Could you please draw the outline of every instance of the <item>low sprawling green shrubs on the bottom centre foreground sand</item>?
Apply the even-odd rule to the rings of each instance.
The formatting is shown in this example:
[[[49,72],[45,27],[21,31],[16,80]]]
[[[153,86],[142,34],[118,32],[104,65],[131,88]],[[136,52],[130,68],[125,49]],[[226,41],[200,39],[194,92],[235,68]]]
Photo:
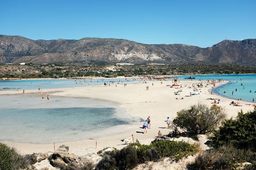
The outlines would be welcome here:
[[[198,147],[184,142],[161,140],[150,145],[134,143],[122,150],[106,152],[96,169],[132,169],[146,161],[157,161],[162,157],[179,160],[198,152]]]

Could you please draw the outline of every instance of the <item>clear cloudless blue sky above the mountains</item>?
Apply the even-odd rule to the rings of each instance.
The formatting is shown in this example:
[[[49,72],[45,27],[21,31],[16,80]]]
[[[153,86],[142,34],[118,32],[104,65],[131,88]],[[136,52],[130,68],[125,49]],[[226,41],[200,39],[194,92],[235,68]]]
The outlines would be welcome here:
[[[256,38],[256,1],[0,0],[0,34],[207,47]]]

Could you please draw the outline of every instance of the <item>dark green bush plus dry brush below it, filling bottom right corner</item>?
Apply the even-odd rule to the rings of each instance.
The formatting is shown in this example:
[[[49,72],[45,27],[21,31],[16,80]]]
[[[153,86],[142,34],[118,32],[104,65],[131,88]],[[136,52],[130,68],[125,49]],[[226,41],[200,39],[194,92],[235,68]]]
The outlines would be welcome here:
[[[256,169],[256,109],[225,120],[210,139],[189,169]]]

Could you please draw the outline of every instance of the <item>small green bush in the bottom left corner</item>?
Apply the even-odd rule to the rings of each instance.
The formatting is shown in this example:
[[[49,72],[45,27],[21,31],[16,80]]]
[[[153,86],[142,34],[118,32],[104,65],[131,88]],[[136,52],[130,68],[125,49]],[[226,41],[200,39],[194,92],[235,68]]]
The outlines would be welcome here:
[[[14,148],[0,143],[0,169],[26,168],[26,161]]]

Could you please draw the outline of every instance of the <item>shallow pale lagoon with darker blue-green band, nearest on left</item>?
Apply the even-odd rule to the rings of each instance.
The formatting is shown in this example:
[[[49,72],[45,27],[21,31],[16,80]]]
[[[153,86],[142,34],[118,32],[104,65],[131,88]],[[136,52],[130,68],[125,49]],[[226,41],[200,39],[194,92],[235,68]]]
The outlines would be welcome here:
[[[97,138],[139,122],[114,103],[74,97],[0,96],[0,140],[53,143]]]

